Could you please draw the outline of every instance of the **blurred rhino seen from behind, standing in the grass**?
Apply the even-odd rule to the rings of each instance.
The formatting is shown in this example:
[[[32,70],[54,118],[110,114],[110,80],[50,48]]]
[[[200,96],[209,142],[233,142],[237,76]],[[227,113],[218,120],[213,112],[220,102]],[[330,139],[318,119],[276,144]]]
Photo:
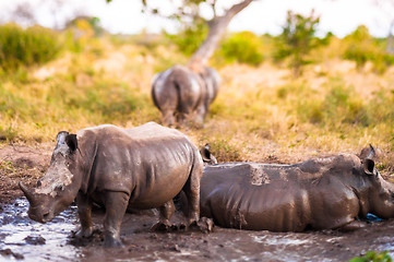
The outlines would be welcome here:
[[[162,112],[162,123],[202,126],[219,83],[218,73],[208,67],[199,74],[179,64],[157,73],[152,81],[152,98]]]

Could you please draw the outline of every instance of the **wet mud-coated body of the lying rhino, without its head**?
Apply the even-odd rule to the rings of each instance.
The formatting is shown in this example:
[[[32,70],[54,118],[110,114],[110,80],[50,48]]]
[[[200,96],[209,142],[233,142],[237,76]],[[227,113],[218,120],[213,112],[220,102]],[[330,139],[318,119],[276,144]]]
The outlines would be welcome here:
[[[333,159],[332,159],[333,160]],[[351,165],[348,160],[342,163]],[[301,231],[335,228],[357,216],[358,200],[327,159],[295,165],[219,164],[206,167],[201,212],[224,227]],[[344,216],[342,210],[348,211]]]

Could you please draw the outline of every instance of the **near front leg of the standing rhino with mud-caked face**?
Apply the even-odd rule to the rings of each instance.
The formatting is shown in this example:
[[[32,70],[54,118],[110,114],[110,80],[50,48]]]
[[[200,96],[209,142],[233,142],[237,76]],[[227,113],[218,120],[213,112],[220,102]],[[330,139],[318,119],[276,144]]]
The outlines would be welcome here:
[[[129,195],[124,192],[105,193],[104,246],[120,247],[120,225],[128,207]]]

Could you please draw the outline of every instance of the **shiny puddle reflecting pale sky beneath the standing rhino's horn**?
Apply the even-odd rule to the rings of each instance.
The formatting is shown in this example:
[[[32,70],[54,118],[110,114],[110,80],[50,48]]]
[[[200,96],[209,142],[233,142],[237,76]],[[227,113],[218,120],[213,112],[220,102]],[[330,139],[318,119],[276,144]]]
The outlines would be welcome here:
[[[67,245],[71,230],[77,228],[76,206],[60,213],[52,222],[39,224],[27,216],[28,202],[17,199],[0,213],[0,250],[22,254],[24,261],[79,261],[79,249]],[[59,247],[61,247],[59,249]],[[15,260],[0,257],[0,260]]]

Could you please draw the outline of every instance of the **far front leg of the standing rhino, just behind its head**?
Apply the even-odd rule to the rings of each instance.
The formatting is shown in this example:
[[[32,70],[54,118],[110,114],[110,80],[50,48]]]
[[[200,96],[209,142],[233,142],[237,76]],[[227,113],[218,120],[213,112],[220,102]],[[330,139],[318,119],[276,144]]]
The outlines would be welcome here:
[[[81,229],[75,234],[79,238],[88,238],[93,234],[92,201],[81,192],[76,195],[77,214],[80,216]]]

